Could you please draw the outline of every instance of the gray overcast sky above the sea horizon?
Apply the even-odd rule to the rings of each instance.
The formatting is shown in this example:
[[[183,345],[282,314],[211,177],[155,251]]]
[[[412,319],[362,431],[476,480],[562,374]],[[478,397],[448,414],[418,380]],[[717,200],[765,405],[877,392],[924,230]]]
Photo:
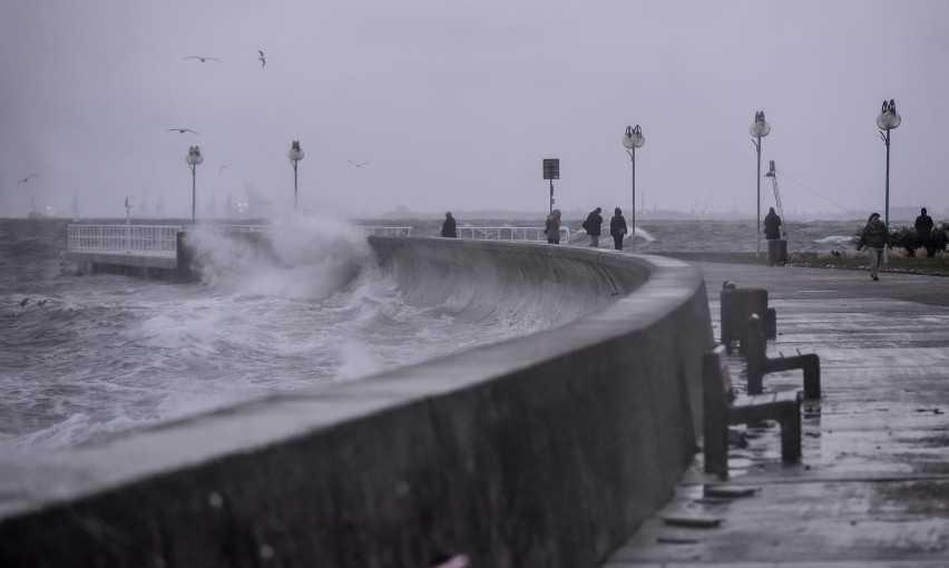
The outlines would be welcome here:
[[[189,216],[195,144],[199,217],[245,183],[292,208],[294,139],[301,208],[540,216],[545,157],[558,207],[627,208],[636,124],[639,208],[753,216],[757,110],[785,213],[869,212],[890,98],[891,209],[949,213],[942,0],[8,0],[0,42],[0,216]]]

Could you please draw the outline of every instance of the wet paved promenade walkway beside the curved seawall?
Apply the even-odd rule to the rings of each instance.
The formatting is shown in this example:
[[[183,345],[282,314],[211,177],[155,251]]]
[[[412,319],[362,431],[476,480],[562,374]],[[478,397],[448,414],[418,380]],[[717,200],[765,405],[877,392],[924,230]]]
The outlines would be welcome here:
[[[732,448],[740,498],[704,498],[702,454],[672,502],[604,565],[949,566],[949,278],[823,268],[698,264],[715,337],[725,280],[764,287],[777,310],[769,355],[821,356],[823,396],[805,401],[803,459],[782,466],[777,427]],[[744,389],[744,360],[731,358]],[[765,389],[800,389],[800,371]],[[710,528],[671,516],[717,521]]]

